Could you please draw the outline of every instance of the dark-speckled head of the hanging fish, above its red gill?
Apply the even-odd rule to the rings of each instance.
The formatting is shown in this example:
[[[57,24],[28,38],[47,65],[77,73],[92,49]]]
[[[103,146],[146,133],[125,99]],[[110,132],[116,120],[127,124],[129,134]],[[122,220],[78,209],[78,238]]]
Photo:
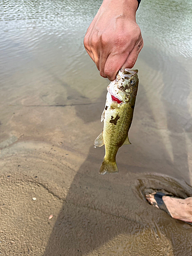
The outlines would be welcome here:
[[[117,77],[108,86],[108,92],[122,103],[135,101],[139,79],[138,70],[120,69]]]

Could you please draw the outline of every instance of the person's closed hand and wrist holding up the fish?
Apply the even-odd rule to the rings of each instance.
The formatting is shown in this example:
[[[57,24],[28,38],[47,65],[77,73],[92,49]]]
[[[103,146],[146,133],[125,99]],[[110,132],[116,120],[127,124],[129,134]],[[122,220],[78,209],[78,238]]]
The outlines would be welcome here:
[[[143,47],[137,6],[137,0],[104,0],[84,37],[100,75],[111,81],[120,68],[133,68]]]

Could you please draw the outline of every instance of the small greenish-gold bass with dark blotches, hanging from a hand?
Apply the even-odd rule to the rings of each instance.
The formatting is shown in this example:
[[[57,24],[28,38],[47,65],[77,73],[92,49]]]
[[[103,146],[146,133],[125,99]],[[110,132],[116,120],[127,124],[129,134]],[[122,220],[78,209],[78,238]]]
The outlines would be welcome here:
[[[123,144],[131,144],[128,132],[133,119],[138,90],[138,70],[120,69],[107,87],[105,107],[101,115],[103,131],[94,141],[95,147],[105,146],[99,174],[118,173],[116,155]]]

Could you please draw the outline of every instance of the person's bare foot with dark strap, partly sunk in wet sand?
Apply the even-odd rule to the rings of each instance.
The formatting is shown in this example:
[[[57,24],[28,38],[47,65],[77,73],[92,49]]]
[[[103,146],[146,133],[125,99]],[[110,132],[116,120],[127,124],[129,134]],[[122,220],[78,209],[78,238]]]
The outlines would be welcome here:
[[[192,197],[181,199],[162,192],[146,194],[145,197],[150,204],[164,210],[172,218],[192,223]]]

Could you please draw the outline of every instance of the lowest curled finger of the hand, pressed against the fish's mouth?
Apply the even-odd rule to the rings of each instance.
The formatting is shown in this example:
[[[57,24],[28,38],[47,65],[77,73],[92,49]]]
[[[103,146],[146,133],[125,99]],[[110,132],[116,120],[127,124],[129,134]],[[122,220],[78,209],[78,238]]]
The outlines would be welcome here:
[[[104,66],[104,75],[108,77],[109,80],[114,80],[117,72],[124,64],[128,53],[123,53],[119,55],[112,55],[110,54],[106,59],[105,66]]]

